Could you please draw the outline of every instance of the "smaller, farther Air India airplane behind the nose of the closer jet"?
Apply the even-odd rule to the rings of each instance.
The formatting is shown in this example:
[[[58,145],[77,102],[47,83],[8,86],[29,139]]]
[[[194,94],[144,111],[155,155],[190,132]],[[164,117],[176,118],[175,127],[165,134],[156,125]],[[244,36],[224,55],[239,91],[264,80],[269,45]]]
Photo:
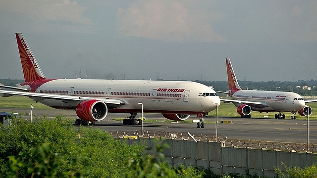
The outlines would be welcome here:
[[[226,92],[231,99],[220,99],[225,103],[232,102],[237,107],[241,118],[251,118],[251,110],[259,112],[279,112],[275,119],[285,119],[283,112],[291,112],[291,119],[296,119],[296,112],[301,116],[312,114],[312,108],[305,105],[308,102],[316,102],[317,99],[304,100],[294,92],[285,91],[261,91],[241,89],[234,74],[229,58],[226,58],[229,89]]]

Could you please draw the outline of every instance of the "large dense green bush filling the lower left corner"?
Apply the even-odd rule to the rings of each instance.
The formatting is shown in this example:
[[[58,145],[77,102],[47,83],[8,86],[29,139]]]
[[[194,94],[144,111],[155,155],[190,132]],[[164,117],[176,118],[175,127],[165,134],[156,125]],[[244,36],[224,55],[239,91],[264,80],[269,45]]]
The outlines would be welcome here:
[[[123,177],[124,161],[144,145],[129,146],[98,129],[73,129],[57,116],[32,124],[21,119],[0,126],[0,177]]]

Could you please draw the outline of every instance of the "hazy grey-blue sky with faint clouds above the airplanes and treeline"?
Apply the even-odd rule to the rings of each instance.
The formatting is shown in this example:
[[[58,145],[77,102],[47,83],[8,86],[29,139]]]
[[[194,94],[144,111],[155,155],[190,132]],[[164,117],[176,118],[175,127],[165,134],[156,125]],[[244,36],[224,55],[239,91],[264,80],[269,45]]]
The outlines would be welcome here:
[[[317,80],[316,0],[1,0],[0,78]]]

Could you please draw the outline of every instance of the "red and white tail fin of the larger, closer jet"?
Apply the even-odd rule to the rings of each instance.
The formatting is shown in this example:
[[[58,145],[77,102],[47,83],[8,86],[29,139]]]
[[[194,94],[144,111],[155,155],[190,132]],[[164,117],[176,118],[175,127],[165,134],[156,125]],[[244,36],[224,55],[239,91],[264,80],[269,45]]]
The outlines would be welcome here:
[[[15,33],[15,36],[19,48],[25,82],[45,79],[44,74],[22,33]]]

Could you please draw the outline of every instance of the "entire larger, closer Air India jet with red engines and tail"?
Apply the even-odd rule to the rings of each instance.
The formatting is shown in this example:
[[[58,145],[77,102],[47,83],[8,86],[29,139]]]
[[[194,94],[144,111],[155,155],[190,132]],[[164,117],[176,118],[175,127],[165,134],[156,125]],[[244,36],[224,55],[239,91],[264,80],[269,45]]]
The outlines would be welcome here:
[[[205,85],[181,81],[47,79],[44,77],[22,33],[16,33],[25,82],[4,86],[2,96],[23,95],[56,109],[75,110],[76,125],[93,125],[108,112],[129,113],[123,125],[141,125],[137,113],[161,113],[163,117],[183,121],[191,114],[202,122],[220,105],[217,93]],[[2,86],[3,87],[3,86]]]

